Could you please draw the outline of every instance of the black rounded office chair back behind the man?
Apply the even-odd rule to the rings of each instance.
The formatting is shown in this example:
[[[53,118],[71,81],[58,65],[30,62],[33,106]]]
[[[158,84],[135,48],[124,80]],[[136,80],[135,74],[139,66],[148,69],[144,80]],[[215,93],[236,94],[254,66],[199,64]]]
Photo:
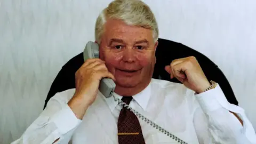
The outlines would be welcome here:
[[[169,41],[167,39],[158,39],[158,46],[156,48],[156,64],[154,68],[153,78],[164,79],[166,81],[180,83],[178,79],[170,78],[164,67],[170,65],[174,59],[185,58],[194,56],[202,67],[205,76],[210,81],[219,83],[221,90],[225,94],[227,100],[234,105],[238,105],[235,94],[222,71],[202,53],[191,49],[190,47],[181,43]],[[44,108],[47,102],[56,93],[62,92],[68,89],[75,88],[75,73],[83,65],[83,52],[70,59],[59,71],[57,77],[54,79],[50,91],[47,94]]]

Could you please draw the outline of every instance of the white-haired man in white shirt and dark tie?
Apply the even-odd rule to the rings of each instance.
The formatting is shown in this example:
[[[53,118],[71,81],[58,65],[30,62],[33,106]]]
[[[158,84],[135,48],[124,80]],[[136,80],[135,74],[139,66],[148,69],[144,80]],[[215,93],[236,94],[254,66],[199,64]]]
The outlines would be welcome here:
[[[180,141],[122,108],[114,97],[187,143],[256,143],[244,110],[228,103],[194,57],[174,60],[165,67],[171,78],[183,84],[151,78],[157,38],[157,22],[145,3],[110,3],[95,26],[100,59],[86,60],[76,73],[76,89],[57,93],[13,143]],[[105,77],[116,83],[110,98],[98,91]]]

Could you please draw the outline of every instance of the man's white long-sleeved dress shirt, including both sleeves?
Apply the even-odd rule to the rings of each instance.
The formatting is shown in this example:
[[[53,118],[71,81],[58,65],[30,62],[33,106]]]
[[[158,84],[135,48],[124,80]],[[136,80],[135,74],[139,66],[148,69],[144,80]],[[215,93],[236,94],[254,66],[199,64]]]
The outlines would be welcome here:
[[[100,92],[79,120],[67,105],[75,89],[54,95],[46,109],[13,143],[118,143],[121,106]],[[120,95],[115,94],[121,99]],[[159,79],[133,95],[130,107],[187,143],[256,143],[256,134],[241,107],[230,104],[219,86],[195,94],[184,85]],[[229,111],[236,113],[242,124]],[[139,118],[146,143],[178,143]]]

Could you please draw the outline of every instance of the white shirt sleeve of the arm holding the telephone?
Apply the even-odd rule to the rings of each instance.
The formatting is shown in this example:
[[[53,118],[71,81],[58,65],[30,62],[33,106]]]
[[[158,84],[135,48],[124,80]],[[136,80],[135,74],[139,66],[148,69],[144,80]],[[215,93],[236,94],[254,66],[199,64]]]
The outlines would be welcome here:
[[[70,107],[68,101],[74,90],[57,93],[50,99],[45,110],[28,127],[25,133],[11,144],[21,143],[68,143],[76,127],[81,123]]]

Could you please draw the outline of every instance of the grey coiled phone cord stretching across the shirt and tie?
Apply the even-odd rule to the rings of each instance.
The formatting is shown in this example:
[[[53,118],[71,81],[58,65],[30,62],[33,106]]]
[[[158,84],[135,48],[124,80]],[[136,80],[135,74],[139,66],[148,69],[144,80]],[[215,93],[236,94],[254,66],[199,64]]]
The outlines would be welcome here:
[[[159,130],[160,132],[166,134],[168,137],[172,138],[175,141],[178,141],[181,144],[188,144],[187,142],[181,140],[180,138],[176,137],[175,135],[171,134],[170,132],[166,131],[165,129],[163,129],[163,127],[158,126],[156,123],[150,121],[150,119],[146,118],[145,116],[141,115],[138,111],[134,110],[133,108],[129,107],[129,105],[126,105],[125,102],[123,102],[122,100],[118,99],[115,97],[115,95],[112,93],[114,100],[118,101],[118,105],[121,105],[122,107],[132,111],[137,117],[141,118],[143,121],[147,122],[148,124],[150,124],[151,126],[155,127],[157,130]]]

